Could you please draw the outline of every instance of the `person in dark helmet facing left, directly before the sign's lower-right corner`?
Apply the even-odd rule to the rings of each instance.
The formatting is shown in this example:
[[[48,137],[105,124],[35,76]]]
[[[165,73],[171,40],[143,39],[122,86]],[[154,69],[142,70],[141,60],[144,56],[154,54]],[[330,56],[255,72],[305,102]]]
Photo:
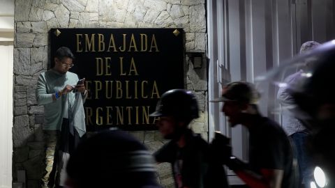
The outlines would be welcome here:
[[[188,127],[199,117],[195,96],[184,89],[163,93],[151,117],[159,117],[158,129],[170,139],[154,153],[156,162],[169,162],[177,188],[228,187],[223,166],[211,161],[209,145]]]

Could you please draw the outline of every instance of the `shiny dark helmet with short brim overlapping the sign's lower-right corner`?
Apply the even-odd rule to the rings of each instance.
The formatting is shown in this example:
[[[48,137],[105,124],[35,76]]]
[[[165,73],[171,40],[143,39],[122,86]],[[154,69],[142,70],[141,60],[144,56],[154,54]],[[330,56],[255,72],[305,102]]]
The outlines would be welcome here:
[[[198,102],[191,91],[172,89],[163,93],[151,117],[174,116],[181,120],[199,117]]]

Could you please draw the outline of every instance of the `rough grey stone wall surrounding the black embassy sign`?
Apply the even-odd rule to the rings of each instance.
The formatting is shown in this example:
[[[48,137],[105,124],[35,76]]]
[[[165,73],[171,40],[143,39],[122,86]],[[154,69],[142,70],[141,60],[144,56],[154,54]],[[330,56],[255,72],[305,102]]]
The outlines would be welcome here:
[[[50,68],[51,28],[168,28],[185,31],[186,52],[205,52],[204,0],[15,0],[13,181],[27,172],[27,187],[38,187],[43,172],[43,106],[35,98],[38,75]],[[206,61],[206,57],[203,57]],[[186,88],[198,97],[201,116],[191,125],[207,139],[207,63],[193,69],[186,54]],[[166,141],[157,131],[131,132],[151,151]],[[174,187],[169,164],[158,165],[158,180]]]

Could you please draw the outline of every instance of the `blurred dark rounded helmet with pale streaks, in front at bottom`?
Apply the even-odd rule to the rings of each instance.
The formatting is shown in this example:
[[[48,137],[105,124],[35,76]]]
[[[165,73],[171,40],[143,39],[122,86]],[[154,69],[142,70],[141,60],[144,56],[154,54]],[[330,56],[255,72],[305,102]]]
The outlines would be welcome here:
[[[154,157],[121,130],[107,130],[82,141],[70,156],[68,188],[159,188]]]

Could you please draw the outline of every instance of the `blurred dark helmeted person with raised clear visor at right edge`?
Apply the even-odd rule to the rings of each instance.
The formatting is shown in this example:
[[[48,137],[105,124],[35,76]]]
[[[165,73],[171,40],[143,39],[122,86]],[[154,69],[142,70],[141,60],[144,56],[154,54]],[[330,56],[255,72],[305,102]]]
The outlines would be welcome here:
[[[311,68],[301,73],[294,84],[285,83],[281,75],[301,62]],[[335,40],[300,54],[258,79],[268,84],[288,84],[295,116],[310,130],[307,146],[314,164],[311,187],[335,187]]]

